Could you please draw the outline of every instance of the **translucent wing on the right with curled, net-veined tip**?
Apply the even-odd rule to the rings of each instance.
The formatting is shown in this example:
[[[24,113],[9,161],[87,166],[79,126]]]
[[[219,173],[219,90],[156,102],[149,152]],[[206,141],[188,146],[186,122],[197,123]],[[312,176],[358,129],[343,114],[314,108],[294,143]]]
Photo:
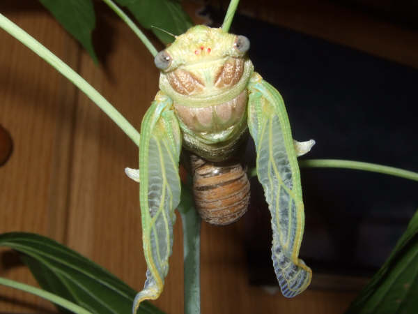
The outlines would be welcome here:
[[[249,82],[248,126],[272,216],[274,271],[283,295],[294,297],[307,288],[312,274],[298,259],[304,229],[299,166],[283,99],[257,73]]]

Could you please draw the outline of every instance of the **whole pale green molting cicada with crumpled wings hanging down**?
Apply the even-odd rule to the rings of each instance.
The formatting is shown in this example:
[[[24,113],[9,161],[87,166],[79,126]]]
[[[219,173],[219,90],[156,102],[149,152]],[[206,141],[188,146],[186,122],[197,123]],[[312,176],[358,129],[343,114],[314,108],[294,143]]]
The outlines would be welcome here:
[[[272,216],[272,260],[285,297],[304,291],[311,269],[298,258],[304,207],[297,156],[314,141],[291,135],[279,92],[254,72],[249,40],[196,26],[155,57],[160,91],[141,125],[139,170],[143,244],[148,264],[144,299],[156,299],[169,269],[174,209],[180,202],[182,147],[194,171],[196,207],[203,219],[224,225],[247,210],[249,182],[238,150],[248,133],[256,144],[256,171]]]

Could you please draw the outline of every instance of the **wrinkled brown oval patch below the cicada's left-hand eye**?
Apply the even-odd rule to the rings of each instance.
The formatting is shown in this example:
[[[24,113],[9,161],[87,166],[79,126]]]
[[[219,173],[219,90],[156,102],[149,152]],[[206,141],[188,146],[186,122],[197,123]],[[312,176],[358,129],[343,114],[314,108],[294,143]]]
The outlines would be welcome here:
[[[199,80],[193,73],[187,70],[178,69],[167,76],[171,87],[179,94],[192,95],[196,94],[205,87],[203,82]]]

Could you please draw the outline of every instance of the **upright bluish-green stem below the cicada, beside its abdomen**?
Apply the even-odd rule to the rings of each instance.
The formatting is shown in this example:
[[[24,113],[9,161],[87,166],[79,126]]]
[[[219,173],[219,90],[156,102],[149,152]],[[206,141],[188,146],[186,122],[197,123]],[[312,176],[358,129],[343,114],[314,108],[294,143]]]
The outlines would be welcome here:
[[[200,313],[200,230],[201,218],[194,209],[192,192],[183,184],[180,205],[183,223],[185,271],[185,314]]]

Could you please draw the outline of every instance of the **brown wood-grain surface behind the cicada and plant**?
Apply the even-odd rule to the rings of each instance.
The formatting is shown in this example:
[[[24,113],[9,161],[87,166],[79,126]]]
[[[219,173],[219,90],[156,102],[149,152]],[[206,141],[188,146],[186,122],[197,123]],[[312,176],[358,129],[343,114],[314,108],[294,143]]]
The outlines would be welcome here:
[[[418,68],[418,33],[411,28],[328,1],[256,2],[243,0],[242,12]],[[185,1],[190,15],[199,6]],[[94,33],[100,58],[96,66],[38,1],[3,0],[0,12],[77,70],[139,129],[157,91],[158,71],[123,22],[107,10],[100,15]],[[52,237],[140,290],[146,264],[138,185],[123,172],[137,167],[137,147],[84,94],[4,31],[0,47],[0,125],[14,144],[10,160],[0,167],[0,232]],[[155,301],[167,313],[183,313],[177,221],[169,275]],[[203,223],[202,313],[343,313],[355,298],[357,292],[308,290],[285,299],[249,286],[242,232],[240,222],[227,227]],[[0,276],[36,285],[4,249]],[[0,313],[10,312],[55,309],[47,301],[0,287]]]

